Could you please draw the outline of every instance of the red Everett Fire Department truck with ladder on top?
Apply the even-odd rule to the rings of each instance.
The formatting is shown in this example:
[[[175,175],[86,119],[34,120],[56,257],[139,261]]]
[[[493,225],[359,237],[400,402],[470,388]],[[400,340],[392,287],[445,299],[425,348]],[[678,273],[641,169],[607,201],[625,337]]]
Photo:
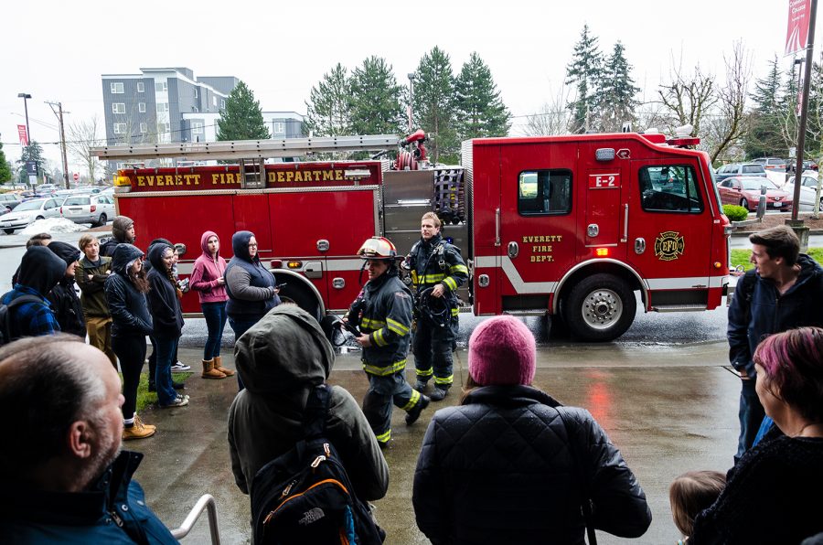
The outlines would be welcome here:
[[[550,315],[572,337],[607,341],[646,312],[703,311],[729,286],[730,222],[697,139],[583,134],[467,141],[462,166],[428,164],[422,132],[197,144],[102,147],[127,161],[115,176],[118,214],[138,245],[172,240],[181,275],[213,230],[221,255],[251,230],[282,284],[281,298],[319,317],[342,313],[364,275],[356,251],[385,236],[403,254],[435,211],[470,282],[458,293],[475,315]],[[398,149],[397,159],[272,162],[331,152]],[[139,160],[233,161],[144,168]],[[184,311],[198,315],[197,294]]]

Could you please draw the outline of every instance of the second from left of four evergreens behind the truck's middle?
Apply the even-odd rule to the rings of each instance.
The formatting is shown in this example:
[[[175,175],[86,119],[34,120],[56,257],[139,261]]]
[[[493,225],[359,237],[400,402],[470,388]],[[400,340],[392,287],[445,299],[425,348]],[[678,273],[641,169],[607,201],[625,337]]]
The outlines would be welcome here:
[[[386,59],[369,57],[354,69],[349,81],[354,134],[400,134],[401,86]]]

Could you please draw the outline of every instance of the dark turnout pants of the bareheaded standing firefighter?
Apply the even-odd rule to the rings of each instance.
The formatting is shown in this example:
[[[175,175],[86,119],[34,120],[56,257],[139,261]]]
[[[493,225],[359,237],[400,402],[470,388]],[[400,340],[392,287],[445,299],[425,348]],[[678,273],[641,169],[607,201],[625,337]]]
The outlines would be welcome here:
[[[456,332],[457,316],[453,316],[446,327],[433,326],[424,319],[417,320],[417,329],[412,337],[412,351],[418,380],[427,382],[434,377],[434,386],[448,388],[452,385],[452,351]]]

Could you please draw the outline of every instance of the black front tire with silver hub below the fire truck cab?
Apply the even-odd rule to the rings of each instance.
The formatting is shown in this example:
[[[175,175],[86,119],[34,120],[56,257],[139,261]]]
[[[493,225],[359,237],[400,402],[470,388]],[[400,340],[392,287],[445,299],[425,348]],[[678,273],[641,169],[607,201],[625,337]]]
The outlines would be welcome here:
[[[573,338],[604,342],[620,337],[632,325],[637,303],[623,280],[600,273],[575,285],[563,310]]]

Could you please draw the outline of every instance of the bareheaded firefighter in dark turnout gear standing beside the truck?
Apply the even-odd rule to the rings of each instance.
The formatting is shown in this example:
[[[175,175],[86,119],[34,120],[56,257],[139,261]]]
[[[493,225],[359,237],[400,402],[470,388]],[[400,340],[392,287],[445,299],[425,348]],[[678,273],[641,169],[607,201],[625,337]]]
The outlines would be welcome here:
[[[442,401],[452,387],[452,351],[457,337],[457,296],[468,279],[460,249],[443,240],[442,223],[433,212],[423,214],[421,239],[406,257],[416,290],[416,329],[412,341],[417,382],[422,392],[434,377],[432,401]]]

